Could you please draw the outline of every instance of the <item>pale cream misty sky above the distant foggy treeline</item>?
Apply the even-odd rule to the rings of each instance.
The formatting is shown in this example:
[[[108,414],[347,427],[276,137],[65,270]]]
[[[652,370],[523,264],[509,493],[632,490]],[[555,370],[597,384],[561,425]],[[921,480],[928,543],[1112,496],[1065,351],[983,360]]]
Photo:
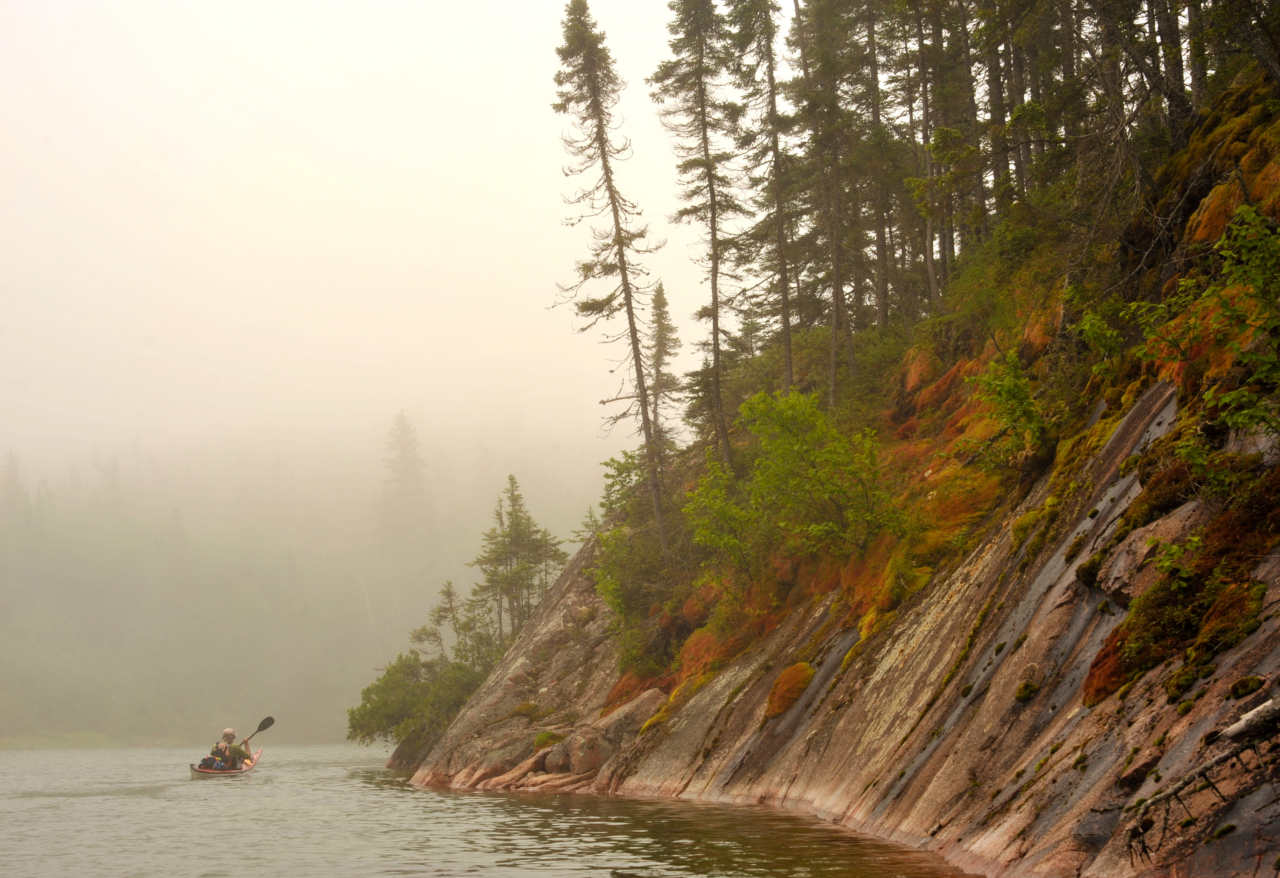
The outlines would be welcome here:
[[[622,172],[686,338],[696,233],[644,77],[660,1],[595,0]],[[0,452],[554,447],[598,481],[609,349],[547,310],[585,255],[550,110],[559,0],[0,4]],[[584,497],[586,500],[594,497]]]

